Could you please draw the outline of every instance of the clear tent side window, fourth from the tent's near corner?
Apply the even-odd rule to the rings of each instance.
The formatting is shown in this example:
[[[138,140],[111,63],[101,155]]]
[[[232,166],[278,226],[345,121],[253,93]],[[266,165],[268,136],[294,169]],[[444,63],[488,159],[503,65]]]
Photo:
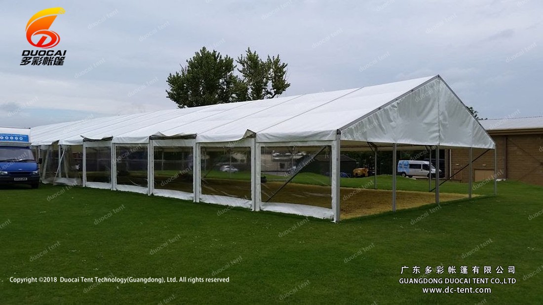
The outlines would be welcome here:
[[[117,146],[117,185],[148,187],[147,145]]]

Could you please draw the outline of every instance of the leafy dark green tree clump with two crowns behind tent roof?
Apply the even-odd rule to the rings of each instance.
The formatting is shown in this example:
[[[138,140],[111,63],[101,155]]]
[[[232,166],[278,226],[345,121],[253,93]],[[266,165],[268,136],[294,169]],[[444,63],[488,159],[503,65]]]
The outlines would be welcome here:
[[[237,69],[228,55],[205,47],[181,66],[180,72],[169,74],[166,90],[169,99],[179,108],[213,105],[245,100],[270,99],[285,92],[287,64],[279,55],[261,60],[254,51],[238,57]]]

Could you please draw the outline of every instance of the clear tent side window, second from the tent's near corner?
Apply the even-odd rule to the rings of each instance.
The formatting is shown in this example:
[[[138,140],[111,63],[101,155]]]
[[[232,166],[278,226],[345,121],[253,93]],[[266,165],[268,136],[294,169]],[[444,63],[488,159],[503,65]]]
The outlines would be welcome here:
[[[201,192],[251,200],[251,148],[201,147]]]

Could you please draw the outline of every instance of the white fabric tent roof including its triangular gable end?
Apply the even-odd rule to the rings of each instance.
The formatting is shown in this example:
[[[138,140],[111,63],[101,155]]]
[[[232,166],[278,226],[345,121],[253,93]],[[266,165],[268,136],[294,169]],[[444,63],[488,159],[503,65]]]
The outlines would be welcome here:
[[[228,142],[333,140],[494,148],[439,75],[269,100],[96,118],[32,128],[33,145],[83,139],[146,143],[150,137]]]

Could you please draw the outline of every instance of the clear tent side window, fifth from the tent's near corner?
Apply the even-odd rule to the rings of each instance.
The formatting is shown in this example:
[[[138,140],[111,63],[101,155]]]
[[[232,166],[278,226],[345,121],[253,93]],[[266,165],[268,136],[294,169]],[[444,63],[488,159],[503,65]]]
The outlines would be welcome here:
[[[111,183],[111,147],[86,147],[87,181]]]

